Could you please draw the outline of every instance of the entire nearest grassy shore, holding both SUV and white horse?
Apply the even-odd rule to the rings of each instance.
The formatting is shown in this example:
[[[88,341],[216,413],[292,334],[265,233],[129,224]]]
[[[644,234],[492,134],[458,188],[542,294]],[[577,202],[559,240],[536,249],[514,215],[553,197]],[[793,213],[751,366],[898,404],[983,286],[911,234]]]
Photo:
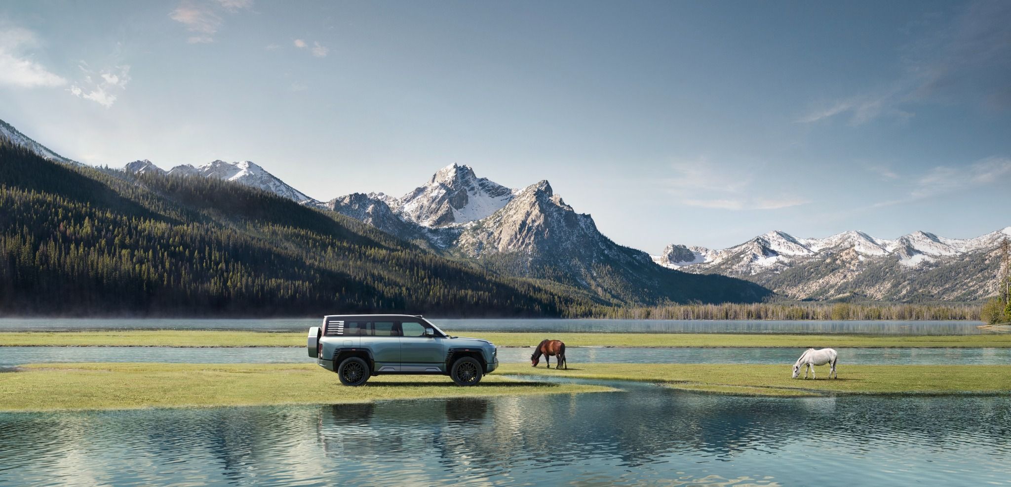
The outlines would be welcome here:
[[[791,379],[789,364],[579,363],[559,371],[502,363],[471,388],[455,386],[445,376],[380,376],[354,388],[342,386],[333,373],[313,363],[30,363],[0,376],[0,413],[349,404],[621,391],[615,382],[768,398],[1011,395],[1011,366],[841,364],[837,380],[827,379],[828,372],[827,366],[818,367],[820,379],[804,380]],[[602,383],[539,381],[547,377]]]

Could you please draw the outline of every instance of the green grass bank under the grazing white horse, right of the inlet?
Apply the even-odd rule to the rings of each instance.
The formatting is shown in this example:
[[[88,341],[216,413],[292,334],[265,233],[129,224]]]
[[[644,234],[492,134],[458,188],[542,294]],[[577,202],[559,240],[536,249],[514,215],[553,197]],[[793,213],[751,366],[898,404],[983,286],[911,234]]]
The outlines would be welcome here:
[[[817,380],[791,379],[787,366],[579,363],[568,371],[503,363],[499,374],[660,383],[675,389],[758,396],[839,394],[1009,394],[1011,366],[846,366],[839,379],[817,368]],[[803,377],[803,375],[801,376]]]

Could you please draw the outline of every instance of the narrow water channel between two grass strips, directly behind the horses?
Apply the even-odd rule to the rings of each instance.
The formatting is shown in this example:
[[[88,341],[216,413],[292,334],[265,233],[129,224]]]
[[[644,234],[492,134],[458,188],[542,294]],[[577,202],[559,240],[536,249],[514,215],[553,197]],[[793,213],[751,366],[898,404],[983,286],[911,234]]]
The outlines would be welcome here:
[[[532,348],[498,348],[502,362],[526,362]],[[847,364],[1007,364],[1011,348],[839,348]],[[800,348],[568,347],[570,363],[793,363]],[[30,362],[164,361],[189,363],[311,362],[300,347],[4,346],[0,367]],[[554,362],[554,359],[551,360]]]

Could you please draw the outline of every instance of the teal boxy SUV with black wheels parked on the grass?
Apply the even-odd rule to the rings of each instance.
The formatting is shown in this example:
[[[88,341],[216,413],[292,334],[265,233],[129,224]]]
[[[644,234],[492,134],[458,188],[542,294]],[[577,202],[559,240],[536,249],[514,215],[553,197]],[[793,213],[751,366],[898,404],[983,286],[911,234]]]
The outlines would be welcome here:
[[[381,374],[438,374],[473,386],[498,367],[490,341],[449,336],[420,315],[326,316],[309,328],[306,346],[345,386]]]

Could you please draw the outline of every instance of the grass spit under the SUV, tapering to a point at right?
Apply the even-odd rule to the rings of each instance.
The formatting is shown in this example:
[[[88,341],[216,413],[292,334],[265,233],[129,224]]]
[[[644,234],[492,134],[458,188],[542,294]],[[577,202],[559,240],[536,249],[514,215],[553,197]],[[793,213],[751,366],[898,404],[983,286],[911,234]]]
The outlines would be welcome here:
[[[457,387],[444,376],[385,376],[351,388],[318,366],[294,363],[44,363],[0,374],[0,411],[336,404],[606,390],[495,375],[476,387]]]

